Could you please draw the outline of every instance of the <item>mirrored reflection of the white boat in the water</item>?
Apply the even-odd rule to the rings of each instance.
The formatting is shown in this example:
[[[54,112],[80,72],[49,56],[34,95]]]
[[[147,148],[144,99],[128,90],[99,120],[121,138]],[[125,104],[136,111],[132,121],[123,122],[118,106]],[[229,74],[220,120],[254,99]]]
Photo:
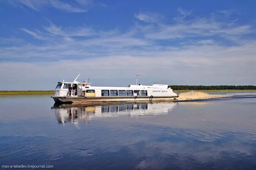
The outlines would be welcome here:
[[[176,103],[105,103],[97,105],[54,104],[58,122],[61,124],[87,123],[89,120],[101,117],[128,115],[130,117],[147,117],[168,114]]]

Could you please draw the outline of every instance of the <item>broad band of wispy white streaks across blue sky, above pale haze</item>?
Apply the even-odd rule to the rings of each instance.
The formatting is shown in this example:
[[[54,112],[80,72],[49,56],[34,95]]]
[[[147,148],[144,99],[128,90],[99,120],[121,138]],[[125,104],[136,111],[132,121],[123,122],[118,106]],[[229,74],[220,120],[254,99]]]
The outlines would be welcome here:
[[[179,11],[184,15],[190,13],[181,9]],[[218,46],[219,38],[235,43],[236,46],[243,46],[245,44],[243,35],[253,31],[250,25],[238,25],[235,22],[227,24],[212,18],[194,18],[165,24],[164,21],[159,22],[158,17],[149,16],[149,13],[140,11],[135,17],[147,21],[147,24],[136,24],[128,32],[120,32],[117,29],[97,30],[86,25],[61,27],[48,20],[49,23],[41,29],[20,28],[33,38],[41,40],[40,43],[31,42],[23,46],[4,47],[1,49],[3,54],[1,58],[26,61],[33,57],[44,60],[47,57],[52,58],[51,56],[54,56],[55,60],[70,56],[92,57],[101,54],[147,56],[157,55],[163,51],[184,50],[188,46]],[[168,40],[171,43],[161,43],[159,40]],[[23,57],[20,57],[20,54]]]

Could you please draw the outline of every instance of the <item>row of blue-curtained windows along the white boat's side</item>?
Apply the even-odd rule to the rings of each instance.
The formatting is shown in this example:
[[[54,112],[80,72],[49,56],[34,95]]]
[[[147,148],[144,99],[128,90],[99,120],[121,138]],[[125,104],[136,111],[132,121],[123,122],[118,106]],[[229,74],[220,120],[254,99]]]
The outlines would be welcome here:
[[[86,90],[95,93],[95,90]],[[147,96],[147,90],[101,90],[101,96]]]

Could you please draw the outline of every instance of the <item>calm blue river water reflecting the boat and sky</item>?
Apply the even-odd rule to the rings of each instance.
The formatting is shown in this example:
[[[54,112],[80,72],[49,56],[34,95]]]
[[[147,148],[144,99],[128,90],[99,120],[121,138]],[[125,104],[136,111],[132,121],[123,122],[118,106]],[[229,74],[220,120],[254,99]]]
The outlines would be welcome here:
[[[0,164],[256,169],[256,93],[182,103],[54,105],[0,97]]]

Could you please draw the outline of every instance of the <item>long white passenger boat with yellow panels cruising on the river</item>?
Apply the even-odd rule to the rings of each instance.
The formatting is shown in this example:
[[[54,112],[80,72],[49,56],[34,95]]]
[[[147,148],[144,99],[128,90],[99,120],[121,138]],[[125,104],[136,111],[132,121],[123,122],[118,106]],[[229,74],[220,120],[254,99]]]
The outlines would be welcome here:
[[[73,82],[58,82],[55,94],[56,103],[84,103],[102,101],[159,101],[177,100],[178,95],[168,85],[153,84],[152,86],[128,85],[128,87],[91,86],[75,78]]]

